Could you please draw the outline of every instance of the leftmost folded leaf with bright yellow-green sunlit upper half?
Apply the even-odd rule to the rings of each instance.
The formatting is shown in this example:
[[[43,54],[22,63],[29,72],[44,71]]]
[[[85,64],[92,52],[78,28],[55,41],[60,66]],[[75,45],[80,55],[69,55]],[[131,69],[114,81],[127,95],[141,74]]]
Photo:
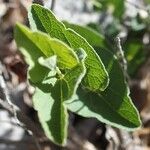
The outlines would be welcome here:
[[[42,32],[32,32],[21,24],[15,27],[15,40],[29,64],[29,78],[32,82],[42,81],[48,73],[47,69],[38,63],[40,57],[56,55],[60,69],[71,69],[79,62],[75,52],[63,42]]]

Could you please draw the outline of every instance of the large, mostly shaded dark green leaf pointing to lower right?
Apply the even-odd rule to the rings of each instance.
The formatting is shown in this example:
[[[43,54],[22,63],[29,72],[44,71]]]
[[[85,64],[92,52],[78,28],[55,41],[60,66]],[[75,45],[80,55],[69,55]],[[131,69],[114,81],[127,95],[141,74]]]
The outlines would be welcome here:
[[[112,126],[133,130],[140,127],[139,114],[130,97],[124,75],[118,61],[108,51],[98,51],[110,76],[108,88],[101,94],[78,90],[74,100],[67,104],[71,111],[84,116],[95,117]]]

